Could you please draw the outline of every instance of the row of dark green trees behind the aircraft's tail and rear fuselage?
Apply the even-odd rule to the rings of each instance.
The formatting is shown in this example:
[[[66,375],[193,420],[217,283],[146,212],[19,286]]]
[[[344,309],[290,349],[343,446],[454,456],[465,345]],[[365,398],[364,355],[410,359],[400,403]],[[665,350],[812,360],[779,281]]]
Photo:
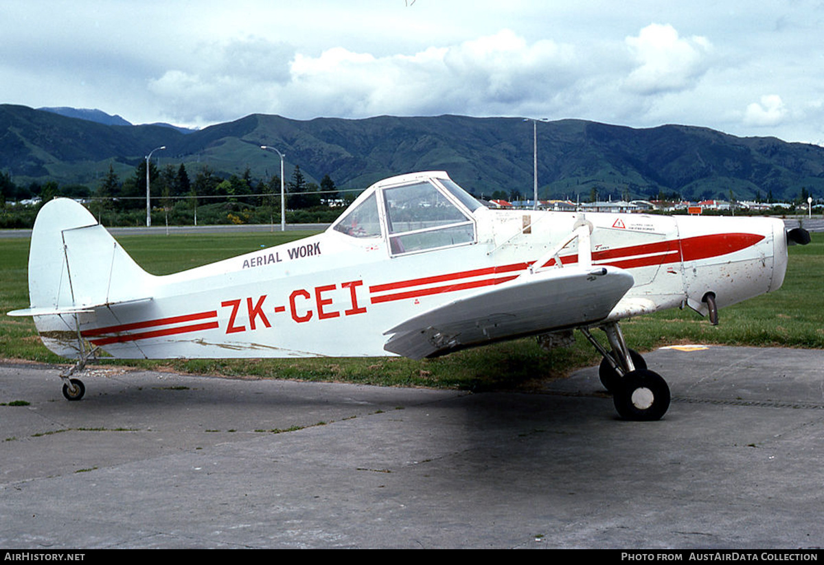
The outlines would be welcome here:
[[[96,189],[84,184],[60,185],[54,180],[21,186],[0,171],[0,227],[30,226],[36,209],[58,196],[82,199],[98,219],[105,217],[107,225],[139,224],[141,214],[145,221],[146,166],[146,161],[141,161],[133,175],[121,181],[110,165]],[[156,214],[172,224],[269,223],[280,216],[279,175],[255,179],[247,168],[242,175],[226,176],[201,166],[192,178],[183,163],[161,168],[150,161],[148,167],[152,224]],[[354,198],[341,193],[330,175],[324,175],[321,184],[308,182],[300,166],[295,166],[284,184],[289,222],[331,222],[339,207]],[[27,199],[39,199],[39,203],[34,207],[12,205]]]

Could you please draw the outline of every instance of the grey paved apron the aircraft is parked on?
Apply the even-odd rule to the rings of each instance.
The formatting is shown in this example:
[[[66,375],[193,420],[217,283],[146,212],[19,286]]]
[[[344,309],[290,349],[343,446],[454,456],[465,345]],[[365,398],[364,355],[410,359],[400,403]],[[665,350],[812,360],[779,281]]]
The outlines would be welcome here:
[[[824,351],[645,358],[659,422],[596,368],[467,394],[96,367],[68,402],[0,364],[0,547],[822,547]]]

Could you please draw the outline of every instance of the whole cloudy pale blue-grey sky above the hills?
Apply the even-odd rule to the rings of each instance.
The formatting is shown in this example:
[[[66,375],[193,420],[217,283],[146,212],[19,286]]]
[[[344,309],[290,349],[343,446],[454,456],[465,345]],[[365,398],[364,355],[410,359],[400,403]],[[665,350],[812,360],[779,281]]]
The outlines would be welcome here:
[[[819,0],[2,0],[0,102],[581,118],[824,145]]]

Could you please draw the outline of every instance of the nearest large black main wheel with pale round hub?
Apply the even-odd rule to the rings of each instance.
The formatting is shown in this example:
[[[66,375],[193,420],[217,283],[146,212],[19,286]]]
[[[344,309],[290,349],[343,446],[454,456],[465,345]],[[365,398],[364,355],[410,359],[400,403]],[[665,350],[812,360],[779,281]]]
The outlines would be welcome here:
[[[667,381],[653,371],[630,371],[612,395],[621,418],[635,422],[659,420],[667,413],[670,391]]]

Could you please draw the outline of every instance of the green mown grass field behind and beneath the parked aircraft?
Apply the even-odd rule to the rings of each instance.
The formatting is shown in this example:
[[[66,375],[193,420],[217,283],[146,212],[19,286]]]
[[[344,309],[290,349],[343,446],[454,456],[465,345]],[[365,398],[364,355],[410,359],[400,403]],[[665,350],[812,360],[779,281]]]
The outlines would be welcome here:
[[[309,232],[232,233],[217,235],[121,236],[124,248],[154,274],[172,273],[236,254],[269,247]],[[0,357],[65,363],[40,343],[29,318],[5,312],[29,305],[26,282],[27,239],[0,239]],[[784,286],[720,311],[720,325],[695,312],[663,311],[622,324],[630,347],[641,352],[673,343],[723,343],[752,347],[824,348],[824,234],[812,243],[790,248]],[[310,381],[349,381],[376,385],[423,385],[472,390],[528,386],[566,375],[599,362],[580,335],[571,348],[547,353],[534,339],[519,339],[452,353],[438,359],[411,361],[400,357],[180,360],[116,363],[133,367],[170,368],[195,374],[251,376]]]

